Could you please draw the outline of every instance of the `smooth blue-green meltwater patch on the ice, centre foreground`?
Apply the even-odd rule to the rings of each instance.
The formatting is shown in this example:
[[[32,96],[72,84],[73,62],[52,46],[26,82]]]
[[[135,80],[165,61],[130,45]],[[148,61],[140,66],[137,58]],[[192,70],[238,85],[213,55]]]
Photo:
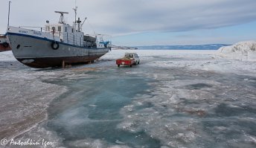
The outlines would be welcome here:
[[[69,90],[49,107],[48,128],[65,138],[63,144],[69,147],[83,139],[88,140],[87,143],[98,139],[109,147],[114,144],[160,147],[160,142],[143,130],[133,133],[117,129],[124,118],[121,109],[130,104],[135,95],[148,93],[145,91],[149,89],[148,82],[132,71],[135,68],[94,71],[90,72],[91,77],[77,79],[72,84],[63,79],[51,81],[68,86]]]

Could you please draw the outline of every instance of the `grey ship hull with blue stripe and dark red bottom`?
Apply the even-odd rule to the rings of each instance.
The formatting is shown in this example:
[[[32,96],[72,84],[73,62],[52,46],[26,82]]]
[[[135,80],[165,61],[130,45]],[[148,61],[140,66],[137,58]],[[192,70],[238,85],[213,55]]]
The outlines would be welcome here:
[[[7,33],[14,57],[32,68],[48,68],[65,64],[86,63],[102,57],[109,48],[86,48],[52,39]],[[53,47],[57,43],[57,48]]]

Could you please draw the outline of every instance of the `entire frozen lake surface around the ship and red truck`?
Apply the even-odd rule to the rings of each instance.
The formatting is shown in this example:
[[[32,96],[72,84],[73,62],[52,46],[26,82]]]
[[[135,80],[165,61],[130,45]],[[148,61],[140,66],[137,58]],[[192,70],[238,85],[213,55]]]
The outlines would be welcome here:
[[[215,51],[147,50],[136,51],[140,65],[118,68],[125,52],[66,69],[28,68],[0,53],[0,139],[44,139],[53,142],[48,147],[256,147],[255,62]]]

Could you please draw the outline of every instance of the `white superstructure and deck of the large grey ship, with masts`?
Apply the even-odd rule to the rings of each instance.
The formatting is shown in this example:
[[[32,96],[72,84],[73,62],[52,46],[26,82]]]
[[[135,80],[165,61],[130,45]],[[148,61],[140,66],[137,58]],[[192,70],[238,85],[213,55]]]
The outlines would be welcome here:
[[[77,45],[82,47],[92,47],[95,46],[97,48],[109,48],[110,42],[103,42],[102,36],[92,36],[95,38],[95,42],[89,42],[86,40],[86,36],[80,29],[80,19],[78,18],[77,23],[74,25],[68,25],[64,21],[64,16],[61,11],[55,11],[56,13],[60,13],[60,21],[56,24],[46,24],[45,28],[41,31],[38,30],[30,30],[27,28],[16,28],[16,27],[9,27],[8,31],[12,33],[22,33],[25,35],[30,36],[38,36],[45,39],[51,39],[57,42],[63,42],[68,45]],[[45,30],[42,32],[42,30]],[[98,38],[98,39],[97,39]]]

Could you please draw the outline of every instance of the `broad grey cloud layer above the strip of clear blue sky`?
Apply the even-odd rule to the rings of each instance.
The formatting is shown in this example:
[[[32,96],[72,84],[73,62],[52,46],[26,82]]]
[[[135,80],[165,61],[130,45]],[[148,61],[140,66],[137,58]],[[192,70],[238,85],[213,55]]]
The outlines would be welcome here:
[[[54,10],[69,11],[68,21],[74,16],[70,0],[13,0],[12,5],[13,25],[57,22]],[[256,20],[255,0],[77,0],[77,6],[81,19],[88,17],[84,30],[113,35],[222,28]]]

